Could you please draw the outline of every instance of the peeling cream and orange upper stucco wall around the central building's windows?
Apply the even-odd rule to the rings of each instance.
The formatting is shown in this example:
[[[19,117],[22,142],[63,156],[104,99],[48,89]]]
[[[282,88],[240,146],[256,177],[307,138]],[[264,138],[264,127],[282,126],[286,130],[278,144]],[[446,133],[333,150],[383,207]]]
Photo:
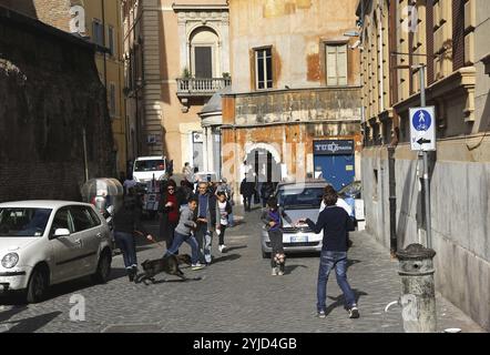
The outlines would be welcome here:
[[[325,41],[356,27],[357,0],[231,0],[233,91],[254,90],[254,48],[272,45],[274,88],[325,85]],[[360,84],[359,51],[348,50],[348,84]]]

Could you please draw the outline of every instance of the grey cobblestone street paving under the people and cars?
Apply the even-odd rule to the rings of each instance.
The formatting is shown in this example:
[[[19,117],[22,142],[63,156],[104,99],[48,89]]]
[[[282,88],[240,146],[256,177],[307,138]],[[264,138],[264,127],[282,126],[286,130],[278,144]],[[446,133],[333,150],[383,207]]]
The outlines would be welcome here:
[[[243,212],[236,212],[243,216]],[[345,333],[402,332],[400,308],[385,306],[399,297],[398,262],[365,232],[353,233],[348,278],[355,290],[360,318],[349,320],[339,287],[331,275],[327,286],[327,317],[316,318],[318,256],[287,260],[286,275],[270,276],[269,261],[262,258],[259,211],[228,230],[228,252],[217,251],[214,263],[198,272],[183,271],[201,281],[180,282],[159,275],[145,286],[129,283],[121,255],[113,260],[111,281],[93,285],[83,278],[53,287],[50,300],[34,305],[0,298],[1,332],[175,332],[175,333]],[[156,232],[156,223],[147,223]],[[140,245],[139,261],[156,258],[164,248]],[[185,245],[182,252],[190,252]],[[163,282],[165,280],[166,282]],[[72,295],[85,300],[85,321],[71,322]],[[452,304],[437,296],[438,332],[458,327],[463,333],[484,332]]]

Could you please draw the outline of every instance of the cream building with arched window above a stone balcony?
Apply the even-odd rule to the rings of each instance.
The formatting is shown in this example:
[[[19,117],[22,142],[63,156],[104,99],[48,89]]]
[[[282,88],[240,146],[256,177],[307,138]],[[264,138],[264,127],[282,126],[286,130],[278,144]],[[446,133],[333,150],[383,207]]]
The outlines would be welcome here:
[[[123,1],[130,134],[135,154],[204,169],[198,113],[229,84],[224,0]]]

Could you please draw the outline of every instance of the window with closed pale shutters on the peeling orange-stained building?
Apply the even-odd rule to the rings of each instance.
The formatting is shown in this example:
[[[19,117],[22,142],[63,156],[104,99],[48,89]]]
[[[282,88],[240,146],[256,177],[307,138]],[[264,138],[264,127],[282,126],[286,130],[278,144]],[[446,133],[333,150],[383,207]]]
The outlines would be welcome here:
[[[327,87],[347,85],[347,44],[325,45]]]

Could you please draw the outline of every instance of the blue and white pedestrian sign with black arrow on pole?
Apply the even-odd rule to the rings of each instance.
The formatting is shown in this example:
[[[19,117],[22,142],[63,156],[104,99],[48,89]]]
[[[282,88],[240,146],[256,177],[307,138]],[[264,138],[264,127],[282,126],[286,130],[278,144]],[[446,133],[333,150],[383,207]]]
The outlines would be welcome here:
[[[410,143],[412,151],[436,150],[435,106],[410,109]]]

